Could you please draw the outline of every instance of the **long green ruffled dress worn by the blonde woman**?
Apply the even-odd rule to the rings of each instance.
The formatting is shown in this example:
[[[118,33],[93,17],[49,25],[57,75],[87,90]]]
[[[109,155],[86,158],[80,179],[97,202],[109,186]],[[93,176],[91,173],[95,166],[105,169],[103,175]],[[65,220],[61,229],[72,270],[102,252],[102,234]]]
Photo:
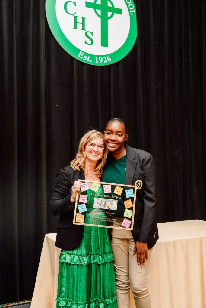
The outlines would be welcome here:
[[[94,191],[88,189],[87,212],[94,210],[91,193]],[[101,186],[98,193],[103,193]],[[104,215],[101,211],[96,214]],[[61,250],[57,308],[116,308],[113,259],[108,229],[85,226],[81,244],[74,250]]]

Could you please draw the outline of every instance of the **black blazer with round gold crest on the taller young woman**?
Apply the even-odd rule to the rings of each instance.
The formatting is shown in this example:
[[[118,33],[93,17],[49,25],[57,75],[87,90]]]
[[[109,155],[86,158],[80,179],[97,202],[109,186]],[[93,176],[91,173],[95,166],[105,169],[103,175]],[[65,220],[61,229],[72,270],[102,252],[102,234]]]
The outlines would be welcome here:
[[[158,240],[157,184],[153,156],[126,144],[125,184],[137,186],[132,236],[152,248]]]

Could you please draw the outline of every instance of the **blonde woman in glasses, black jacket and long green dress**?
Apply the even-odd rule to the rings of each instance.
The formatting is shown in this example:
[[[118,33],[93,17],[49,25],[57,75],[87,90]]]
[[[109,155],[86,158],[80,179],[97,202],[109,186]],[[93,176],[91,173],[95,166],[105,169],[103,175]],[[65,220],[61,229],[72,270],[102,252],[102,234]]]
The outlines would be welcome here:
[[[74,204],[80,191],[78,179],[100,181],[107,160],[103,135],[91,130],[80,140],[70,165],[57,174],[50,201],[53,215],[60,215],[56,246],[61,248],[57,308],[116,308],[115,274],[107,228],[73,225]],[[87,211],[94,197],[87,183]],[[103,193],[101,186],[98,193]]]

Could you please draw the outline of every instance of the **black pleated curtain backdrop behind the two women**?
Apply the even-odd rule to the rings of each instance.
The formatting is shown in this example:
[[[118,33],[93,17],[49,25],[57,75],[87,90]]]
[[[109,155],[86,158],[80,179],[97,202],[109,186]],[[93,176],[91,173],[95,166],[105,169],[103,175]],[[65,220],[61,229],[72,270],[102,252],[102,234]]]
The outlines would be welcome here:
[[[137,41],[105,67],[61,48],[44,0],[0,2],[0,303],[32,298],[55,176],[111,117],[154,156],[158,222],[206,220],[206,3],[134,2]]]

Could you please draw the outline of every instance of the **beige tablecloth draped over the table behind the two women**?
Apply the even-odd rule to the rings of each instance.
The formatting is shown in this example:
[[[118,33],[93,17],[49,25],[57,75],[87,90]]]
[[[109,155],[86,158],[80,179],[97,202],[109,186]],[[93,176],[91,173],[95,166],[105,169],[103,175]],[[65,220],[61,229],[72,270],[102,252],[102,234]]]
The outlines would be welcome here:
[[[158,224],[149,264],[152,308],[206,308],[206,221]],[[46,234],[31,308],[55,308],[60,249]],[[134,300],[131,298],[131,308]]]

